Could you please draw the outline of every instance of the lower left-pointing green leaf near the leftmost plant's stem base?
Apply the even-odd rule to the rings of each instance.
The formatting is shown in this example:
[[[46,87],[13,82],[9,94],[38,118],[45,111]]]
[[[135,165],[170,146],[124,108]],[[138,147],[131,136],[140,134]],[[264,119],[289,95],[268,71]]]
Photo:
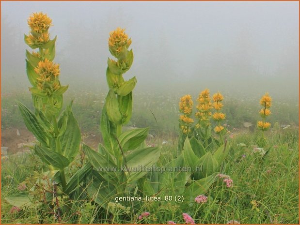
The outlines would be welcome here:
[[[34,151],[43,162],[53,165],[55,168],[63,169],[70,164],[66,157],[45,147],[35,146]]]

